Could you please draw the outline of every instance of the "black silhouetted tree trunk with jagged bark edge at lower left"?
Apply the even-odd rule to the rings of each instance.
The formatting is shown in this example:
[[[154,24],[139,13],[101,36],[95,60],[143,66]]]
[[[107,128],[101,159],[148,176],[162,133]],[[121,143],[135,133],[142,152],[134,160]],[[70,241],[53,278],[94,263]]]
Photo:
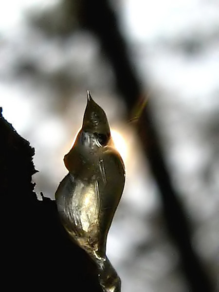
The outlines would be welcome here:
[[[1,285],[6,291],[101,292],[95,265],[68,238],[55,201],[37,200],[33,155],[0,110]]]

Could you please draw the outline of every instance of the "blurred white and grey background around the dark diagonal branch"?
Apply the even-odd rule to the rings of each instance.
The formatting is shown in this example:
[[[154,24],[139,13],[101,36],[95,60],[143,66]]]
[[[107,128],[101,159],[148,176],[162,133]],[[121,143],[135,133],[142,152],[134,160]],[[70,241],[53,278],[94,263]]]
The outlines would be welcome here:
[[[116,26],[107,22],[105,6]],[[104,37],[114,46],[113,37],[104,35],[107,24],[99,34],[92,27],[104,19],[112,36],[124,41],[121,59],[113,60],[103,46]],[[119,65],[118,76],[113,65],[123,60],[124,48],[141,89],[141,98],[129,103],[133,109],[117,81],[126,80],[127,72]],[[40,192],[54,199],[67,173],[63,156],[81,127],[88,89],[107,113],[127,170],[107,246],[122,292],[192,291],[135,126],[148,104],[192,249],[219,291],[218,0],[0,3],[0,106],[35,147],[39,200]]]

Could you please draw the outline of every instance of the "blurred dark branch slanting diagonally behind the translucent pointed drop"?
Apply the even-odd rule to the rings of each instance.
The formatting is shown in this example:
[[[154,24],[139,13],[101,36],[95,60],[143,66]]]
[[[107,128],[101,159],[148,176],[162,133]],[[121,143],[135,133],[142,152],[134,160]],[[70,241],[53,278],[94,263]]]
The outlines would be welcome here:
[[[93,31],[101,41],[116,76],[116,86],[124,98],[130,116],[140,98],[141,86],[130,64],[127,47],[121,36],[109,1],[83,1],[84,26]],[[193,292],[212,291],[211,281],[201,267],[201,262],[192,245],[183,206],[171,184],[171,179],[162,155],[150,108],[143,112],[138,123],[139,138],[146,158],[157,182],[163,200],[164,215],[171,237],[177,245],[183,272]]]

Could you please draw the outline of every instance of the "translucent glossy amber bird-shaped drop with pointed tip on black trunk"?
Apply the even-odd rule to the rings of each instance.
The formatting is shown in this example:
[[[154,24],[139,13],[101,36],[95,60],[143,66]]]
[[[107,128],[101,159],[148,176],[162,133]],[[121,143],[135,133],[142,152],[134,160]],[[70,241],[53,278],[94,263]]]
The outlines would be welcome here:
[[[104,110],[87,93],[82,128],[64,157],[69,173],[55,199],[66,231],[96,263],[103,291],[120,292],[121,280],[106,256],[106,241],[122,196],[125,167],[112,146]]]

